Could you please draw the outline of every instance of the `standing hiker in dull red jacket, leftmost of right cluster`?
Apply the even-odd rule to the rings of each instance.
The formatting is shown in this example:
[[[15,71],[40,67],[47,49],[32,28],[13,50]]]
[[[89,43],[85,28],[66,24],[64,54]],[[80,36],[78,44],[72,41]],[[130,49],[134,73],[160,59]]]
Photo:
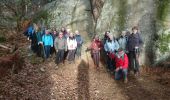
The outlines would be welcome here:
[[[94,61],[96,68],[99,68],[100,50],[102,43],[97,35],[93,37],[92,43],[88,49],[91,49],[91,56]]]

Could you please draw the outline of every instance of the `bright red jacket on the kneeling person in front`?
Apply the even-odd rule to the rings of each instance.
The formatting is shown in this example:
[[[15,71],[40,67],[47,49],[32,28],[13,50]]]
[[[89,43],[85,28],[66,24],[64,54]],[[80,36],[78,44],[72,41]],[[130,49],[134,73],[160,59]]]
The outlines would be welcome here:
[[[127,57],[126,54],[124,54],[124,58],[116,57],[115,58],[115,62],[116,62],[116,68],[118,68],[118,67],[122,67],[123,69],[127,69],[128,68],[128,57]]]

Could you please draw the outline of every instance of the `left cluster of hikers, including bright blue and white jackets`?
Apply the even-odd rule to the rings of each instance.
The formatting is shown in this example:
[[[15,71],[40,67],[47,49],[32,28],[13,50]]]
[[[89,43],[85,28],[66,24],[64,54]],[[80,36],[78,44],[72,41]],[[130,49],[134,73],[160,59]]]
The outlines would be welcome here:
[[[28,27],[24,34],[31,41],[31,50],[39,57],[46,60],[50,55],[56,54],[56,68],[59,64],[64,65],[66,58],[69,63],[74,63],[75,54],[77,58],[81,58],[83,38],[78,30],[72,33],[70,29],[61,28],[58,31],[55,28],[40,28],[33,24]]]

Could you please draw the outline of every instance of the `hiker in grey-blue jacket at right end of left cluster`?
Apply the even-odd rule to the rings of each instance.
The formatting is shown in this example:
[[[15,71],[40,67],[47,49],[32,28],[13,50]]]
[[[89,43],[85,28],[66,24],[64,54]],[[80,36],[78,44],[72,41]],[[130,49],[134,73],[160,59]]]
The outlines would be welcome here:
[[[82,48],[82,44],[83,44],[83,38],[80,35],[78,30],[75,31],[75,34],[76,34],[75,38],[76,38],[76,41],[77,41],[76,55],[77,55],[78,58],[81,58],[81,48]]]

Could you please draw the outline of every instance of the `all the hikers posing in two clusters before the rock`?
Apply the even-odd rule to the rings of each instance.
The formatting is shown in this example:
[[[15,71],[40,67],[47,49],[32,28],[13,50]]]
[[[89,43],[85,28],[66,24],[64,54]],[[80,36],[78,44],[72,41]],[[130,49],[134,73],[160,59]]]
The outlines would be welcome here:
[[[70,29],[61,28],[60,31],[40,28],[38,25],[31,25],[24,33],[28,40],[31,40],[31,49],[38,56],[48,59],[53,53],[56,54],[56,67],[64,65],[64,60],[69,63],[75,61],[75,56],[81,58],[83,38],[78,30],[75,33]],[[132,28],[132,32],[122,31],[116,38],[110,31],[106,31],[103,39],[96,34],[87,50],[91,51],[91,57],[95,67],[99,68],[100,56],[106,57],[105,63],[115,80],[124,78],[127,83],[127,74],[133,71],[135,76],[139,76],[139,54],[143,41],[137,26]]]

